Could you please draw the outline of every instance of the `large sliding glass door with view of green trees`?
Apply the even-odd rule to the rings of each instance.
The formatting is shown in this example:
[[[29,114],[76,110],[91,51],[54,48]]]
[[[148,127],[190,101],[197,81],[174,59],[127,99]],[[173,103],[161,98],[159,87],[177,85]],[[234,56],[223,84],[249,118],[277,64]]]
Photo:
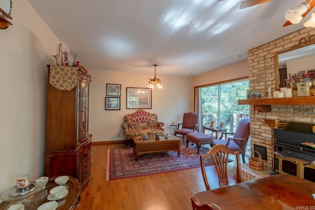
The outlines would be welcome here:
[[[222,128],[227,129],[227,132],[235,132],[239,120],[250,118],[250,106],[238,105],[239,99],[247,98],[248,80],[200,89],[199,113],[202,113],[203,126],[209,126],[211,121],[215,121],[215,126],[222,122]],[[250,154],[250,140],[247,153]]]

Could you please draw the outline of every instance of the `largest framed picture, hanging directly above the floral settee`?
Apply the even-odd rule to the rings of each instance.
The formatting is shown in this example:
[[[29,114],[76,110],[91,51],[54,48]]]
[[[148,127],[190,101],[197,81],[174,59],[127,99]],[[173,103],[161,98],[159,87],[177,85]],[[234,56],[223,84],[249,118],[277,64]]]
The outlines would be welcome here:
[[[152,89],[127,87],[126,109],[152,109]]]

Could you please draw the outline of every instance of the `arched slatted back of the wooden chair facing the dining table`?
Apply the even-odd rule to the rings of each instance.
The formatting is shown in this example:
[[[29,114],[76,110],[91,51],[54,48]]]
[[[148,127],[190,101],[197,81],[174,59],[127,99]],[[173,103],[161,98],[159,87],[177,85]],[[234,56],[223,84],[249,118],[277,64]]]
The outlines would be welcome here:
[[[239,151],[232,151],[228,149],[225,145],[216,145],[208,151],[207,154],[200,155],[200,163],[201,163],[201,172],[202,177],[206,185],[206,189],[210,190],[210,185],[207,179],[206,169],[205,169],[205,159],[212,157],[216,169],[218,172],[219,177],[219,186],[227,186],[227,163],[228,163],[228,156],[229,154],[233,154],[236,156],[236,163],[237,163],[237,176],[236,176],[236,183],[241,182],[241,160],[240,160],[240,152]]]

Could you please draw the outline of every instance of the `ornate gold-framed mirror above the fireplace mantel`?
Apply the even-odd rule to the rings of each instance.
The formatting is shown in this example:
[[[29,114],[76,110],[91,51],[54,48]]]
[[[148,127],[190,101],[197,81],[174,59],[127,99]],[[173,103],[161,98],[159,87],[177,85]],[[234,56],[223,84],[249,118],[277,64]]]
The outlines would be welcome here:
[[[315,35],[299,40],[299,44],[275,54],[276,89],[286,87],[285,79],[289,74],[298,76],[299,71],[314,69]],[[299,82],[299,81],[298,81]]]

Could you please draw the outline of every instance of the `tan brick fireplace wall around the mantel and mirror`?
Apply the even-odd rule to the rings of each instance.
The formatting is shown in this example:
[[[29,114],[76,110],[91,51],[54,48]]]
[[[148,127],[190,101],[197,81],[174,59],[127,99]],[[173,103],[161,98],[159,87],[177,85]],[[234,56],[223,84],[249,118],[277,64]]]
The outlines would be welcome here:
[[[291,48],[304,37],[315,34],[314,28],[303,28],[248,51],[250,89],[276,90],[275,53]],[[267,91],[268,92],[268,91]],[[266,97],[262,91],[262,97]],[[312,96],[309,96],[312,97]],[[270,112],[258,112],[251,105],[251,151],[253,145],[267,148],[264,166],[273,169],[273,129],[264,119],[315,123],[315,105],[272,105]]]

